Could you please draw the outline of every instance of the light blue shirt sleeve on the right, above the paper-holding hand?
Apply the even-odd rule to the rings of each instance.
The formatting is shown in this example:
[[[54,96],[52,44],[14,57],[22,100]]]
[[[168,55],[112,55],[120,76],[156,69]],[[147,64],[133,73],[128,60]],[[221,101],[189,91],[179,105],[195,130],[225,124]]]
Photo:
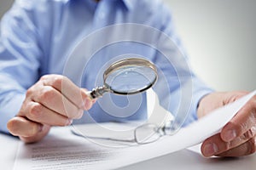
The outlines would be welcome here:
[[[191,70],[189,58],[177,36],[170,9],[162,5],[157,11],[155,17],[160,20],[162,34],[158,45],[159,52],[154,59],[160,72],[154,91],[160,98],[160,105],[174,116],[174,126],[184,127],[197,120],[197,107],[201,98],[213,90]]]

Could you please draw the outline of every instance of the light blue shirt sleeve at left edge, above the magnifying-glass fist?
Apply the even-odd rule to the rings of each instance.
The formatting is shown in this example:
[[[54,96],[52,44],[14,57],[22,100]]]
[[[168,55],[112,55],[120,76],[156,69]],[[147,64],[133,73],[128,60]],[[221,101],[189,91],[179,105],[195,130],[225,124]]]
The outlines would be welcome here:
[[[38,29],[32,9],[16,1],[1,20],[0,29],[0,131],[20,110],[26,89],[38,80]]]

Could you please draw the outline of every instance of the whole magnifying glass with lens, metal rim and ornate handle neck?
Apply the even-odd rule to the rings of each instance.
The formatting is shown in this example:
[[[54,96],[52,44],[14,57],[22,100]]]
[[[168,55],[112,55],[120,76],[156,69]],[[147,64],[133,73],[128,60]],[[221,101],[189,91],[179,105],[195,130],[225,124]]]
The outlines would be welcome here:
[[[92,89],[88,96],[96,99],[105,93],[138,94],[151,88],[157,78],[156,66],[147,59],[121,59],[104,71],[103,86]]]

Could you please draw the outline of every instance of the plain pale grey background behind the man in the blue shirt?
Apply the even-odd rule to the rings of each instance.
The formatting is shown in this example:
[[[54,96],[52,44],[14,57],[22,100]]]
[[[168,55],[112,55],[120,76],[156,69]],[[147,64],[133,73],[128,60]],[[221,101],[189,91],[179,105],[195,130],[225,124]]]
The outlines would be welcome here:
[[[255,0],[164,0],[195,73],[217,90],[256,88]],[[13,0],[0,0],[0,16]]]

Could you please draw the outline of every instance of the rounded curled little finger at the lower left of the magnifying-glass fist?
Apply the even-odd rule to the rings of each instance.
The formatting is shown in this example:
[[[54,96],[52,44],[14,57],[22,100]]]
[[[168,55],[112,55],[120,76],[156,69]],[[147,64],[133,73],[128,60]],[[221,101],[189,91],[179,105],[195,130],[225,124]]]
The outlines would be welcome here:
[[[38,122],[32,122],[21,116],[15,116],[9,120],[7,127],[9,133],[14,136],[31,137],[43,130],[43,125]]]

